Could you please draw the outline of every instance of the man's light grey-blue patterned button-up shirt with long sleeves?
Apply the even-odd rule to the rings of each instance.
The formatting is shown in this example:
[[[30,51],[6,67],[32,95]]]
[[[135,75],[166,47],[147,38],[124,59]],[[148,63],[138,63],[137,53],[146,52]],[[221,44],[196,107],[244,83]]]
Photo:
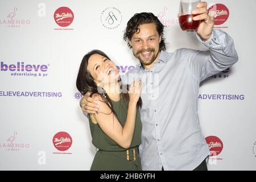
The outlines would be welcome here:
[[[144,84],[139,146],[143,170],[192,170],[209,155],[197,114],[199,85],[236,63],[238,56],[224,31],[213,30],[207,42],[197,38],[209,51],[161,51],[151,69],[138,64],[123,76],[124,84],[136,78]]]

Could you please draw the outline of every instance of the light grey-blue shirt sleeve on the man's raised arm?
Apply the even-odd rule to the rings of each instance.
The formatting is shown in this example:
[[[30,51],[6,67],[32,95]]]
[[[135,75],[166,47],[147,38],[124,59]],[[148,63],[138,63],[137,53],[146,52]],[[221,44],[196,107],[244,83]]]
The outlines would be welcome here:
[[[209,51],[184,49],[184,54],[188,56],[189,68],[200,81],[224,71],[238,61],[233,39],[226,32],[214,30],[206,42],[198,35],[197,38]]]

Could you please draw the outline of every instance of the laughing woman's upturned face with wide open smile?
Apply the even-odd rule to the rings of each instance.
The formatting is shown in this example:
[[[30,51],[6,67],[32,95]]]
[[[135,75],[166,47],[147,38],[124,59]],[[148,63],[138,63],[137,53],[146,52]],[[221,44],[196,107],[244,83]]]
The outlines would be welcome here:
[[[119,76],[117,67],[113,61],[99,54],[90,56],[87,70],[98,86],[101,83],[104,85],[109,84],[117,80]]]

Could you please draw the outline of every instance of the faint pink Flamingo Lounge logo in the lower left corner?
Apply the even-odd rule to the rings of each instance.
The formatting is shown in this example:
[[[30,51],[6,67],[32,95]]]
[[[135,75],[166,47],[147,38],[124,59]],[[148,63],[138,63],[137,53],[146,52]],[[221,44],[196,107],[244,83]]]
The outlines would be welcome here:
[[[5,142],[0,143],[0,149],[1,148],[7,151],[20,151],[23,149],[30,148],[30,144],[20,142],[18,139],[18,133],[14,132],[13,135],[7,137]]]

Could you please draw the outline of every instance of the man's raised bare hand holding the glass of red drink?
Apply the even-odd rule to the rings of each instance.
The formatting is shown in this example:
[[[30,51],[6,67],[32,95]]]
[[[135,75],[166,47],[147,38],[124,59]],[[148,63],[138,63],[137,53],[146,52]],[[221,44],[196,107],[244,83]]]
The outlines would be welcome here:
[[[203,39],[208,40],[212,36],[212,30],[214,26],[214,14],[207,10],[207,2],[200,2],[197,5],[197,9],[192,11],[192,14],[200,14],[193,17],[193,20],[201,20],[200,26],[197,28],[197,34]]]

